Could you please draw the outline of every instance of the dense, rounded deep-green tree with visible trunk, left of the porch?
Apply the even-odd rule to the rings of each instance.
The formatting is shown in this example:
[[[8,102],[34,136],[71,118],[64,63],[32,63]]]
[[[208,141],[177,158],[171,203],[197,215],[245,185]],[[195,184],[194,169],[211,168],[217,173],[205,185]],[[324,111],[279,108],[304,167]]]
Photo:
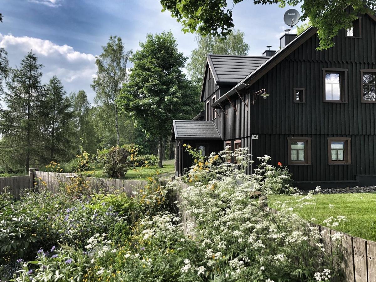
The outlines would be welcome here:
[[[133,62],[129,82],[118,105],[132,117],[147,137],[158,138],[159,167],[162,167],[162,139],[171,134],[174,119],[193,117],[200,108],[195,92],[182,73],[186,57],[177,50],[171,32],[148,34]]]

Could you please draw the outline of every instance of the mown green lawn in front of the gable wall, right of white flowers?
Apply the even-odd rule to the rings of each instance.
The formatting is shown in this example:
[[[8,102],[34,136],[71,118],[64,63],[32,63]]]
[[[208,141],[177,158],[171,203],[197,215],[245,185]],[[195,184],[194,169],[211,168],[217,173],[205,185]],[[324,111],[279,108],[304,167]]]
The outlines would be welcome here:
[[[316,218],[315,223],[324,225],[322,222],[328,217],[344,215],[348,221],[340,223],[335,230],[376,241],[376,193],[318,194],[314,198],[315,205],[307,205],[299,211],[301,217]],[[270,205],[275,208],[276,200],[294,202],[295,199],[293,196],[274,196],[270,198]]]

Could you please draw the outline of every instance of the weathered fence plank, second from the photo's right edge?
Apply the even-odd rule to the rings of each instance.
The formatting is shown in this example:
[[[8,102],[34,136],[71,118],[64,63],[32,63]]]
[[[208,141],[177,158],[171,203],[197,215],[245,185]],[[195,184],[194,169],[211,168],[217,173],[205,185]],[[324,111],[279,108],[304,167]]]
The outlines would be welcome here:
[[[362,238],[353,237],[355,281],[367,282],[367,249]]]

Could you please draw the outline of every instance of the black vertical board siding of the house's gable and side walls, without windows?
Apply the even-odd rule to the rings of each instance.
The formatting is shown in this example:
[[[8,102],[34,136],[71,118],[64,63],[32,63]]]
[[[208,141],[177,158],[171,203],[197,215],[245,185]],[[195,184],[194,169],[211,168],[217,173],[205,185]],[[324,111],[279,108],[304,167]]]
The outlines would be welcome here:
[[[355,174],[376,174],[376,104],[361,103],[361,69],[376,69],[376,23],[368,15],[361,19],[361,38],[334,38],[335,47],[317,51],[317,35],[312,36],[287,58],[255,82],[246,93],[249,110],[237,94],[227,102],[216,126],[224,141],[249,140],[253,160],[265,154],[272,164],[287,164],[287,137],[312,138],[312,165],[291,165],[296,181],[355,180]],[[324,103],[323,68],[347,69],[347,103]],[[305,88],[305,103],[294,103],[294,88]],[[265,88],[267,100],[252,93]],[[221,89],[220,91],[221,92]],[[252,134],[259,139],[251,140]],[[351,138],[350,165],[329,165],[327,137]],[[245,143],[245,142],[244,142]],[[224,145],[224,142],[223,142]],[[241,144],[243,147],[243,143]],[[250,147],[250,146],[247,146]]]

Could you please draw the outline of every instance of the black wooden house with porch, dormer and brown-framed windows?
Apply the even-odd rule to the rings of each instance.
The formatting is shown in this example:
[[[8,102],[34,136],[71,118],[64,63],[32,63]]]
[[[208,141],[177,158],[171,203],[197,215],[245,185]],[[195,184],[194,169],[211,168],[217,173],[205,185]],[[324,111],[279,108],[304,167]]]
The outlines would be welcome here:
[[[205,110],[174,121],[177,175],[192,161],[183,143],[206,155],[229,145],[288,165],[299,188],[376,185],[376,17],[328,50],[316,50],[316,32],[285,34],[263,56],[207,56]]]

